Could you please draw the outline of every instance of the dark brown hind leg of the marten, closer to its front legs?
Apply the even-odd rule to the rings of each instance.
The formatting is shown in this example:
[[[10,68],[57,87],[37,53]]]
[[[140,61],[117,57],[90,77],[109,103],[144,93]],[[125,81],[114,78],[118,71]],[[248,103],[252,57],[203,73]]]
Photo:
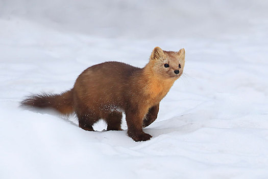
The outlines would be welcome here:
[[[107,122],[107,130],[122,130],[121,122],[122,122],[122,113],[118,111],[112,111],[106,118]]]

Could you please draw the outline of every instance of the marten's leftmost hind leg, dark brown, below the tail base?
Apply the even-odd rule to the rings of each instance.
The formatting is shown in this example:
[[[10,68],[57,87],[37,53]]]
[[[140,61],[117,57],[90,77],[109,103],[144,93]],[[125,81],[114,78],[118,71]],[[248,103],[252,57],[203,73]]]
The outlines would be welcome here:
[[[100,120],[100,117],[93,115],[92,111],[87,110],[79,110],[76,111],[79,127],[84,130],[94,131],[93,124]]]

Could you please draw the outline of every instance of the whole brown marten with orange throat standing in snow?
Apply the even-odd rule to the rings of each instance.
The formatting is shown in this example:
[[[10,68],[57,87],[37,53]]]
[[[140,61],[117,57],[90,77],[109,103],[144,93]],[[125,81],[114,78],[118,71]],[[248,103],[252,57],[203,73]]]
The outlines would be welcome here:
[[[96,64],[80,74],[69,91],[33,95],[21,104],[54,108],[61,114],[75,113],[79,127],[90,131],[100,119],[107,122],[107,130],[121,130],[124,111],[128,136],[134,141],[147,141],[152,136],[142,127],[156,120],[159,102],[182,75],[184,62],[184,49],[172,52],[156,47],[142,69],[115,61]]]

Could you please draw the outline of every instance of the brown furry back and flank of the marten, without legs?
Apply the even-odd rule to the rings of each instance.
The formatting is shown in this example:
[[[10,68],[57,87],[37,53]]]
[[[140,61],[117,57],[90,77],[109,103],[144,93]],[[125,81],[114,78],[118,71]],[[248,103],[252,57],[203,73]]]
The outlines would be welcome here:
[[[101,116],[108,110],[127,107],[133,82],[142,75],[142,69],[122,62],[104,62],[86,69],[76,80],[74,95],[77,103],[98,108]],[[135,82],[134,82],[135,83]],[[135,98],[135,96],[131,96]],[[77,104],[79,106],[79,104]]]

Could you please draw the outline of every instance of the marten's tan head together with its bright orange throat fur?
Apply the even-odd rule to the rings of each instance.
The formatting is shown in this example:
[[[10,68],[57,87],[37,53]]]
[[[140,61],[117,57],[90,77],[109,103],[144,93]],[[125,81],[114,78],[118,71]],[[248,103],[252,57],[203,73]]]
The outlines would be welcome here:
[[[185,50],[163,51],[156,47],[145,66],[147,83],[142,84],[144,94],[150,95],[152,103],[157,103],[167,94],[173,83],[182,75],[185,63]],[[166,66],[167,67],[166,67]],[[177,70],[177,73],[175,71]]]

